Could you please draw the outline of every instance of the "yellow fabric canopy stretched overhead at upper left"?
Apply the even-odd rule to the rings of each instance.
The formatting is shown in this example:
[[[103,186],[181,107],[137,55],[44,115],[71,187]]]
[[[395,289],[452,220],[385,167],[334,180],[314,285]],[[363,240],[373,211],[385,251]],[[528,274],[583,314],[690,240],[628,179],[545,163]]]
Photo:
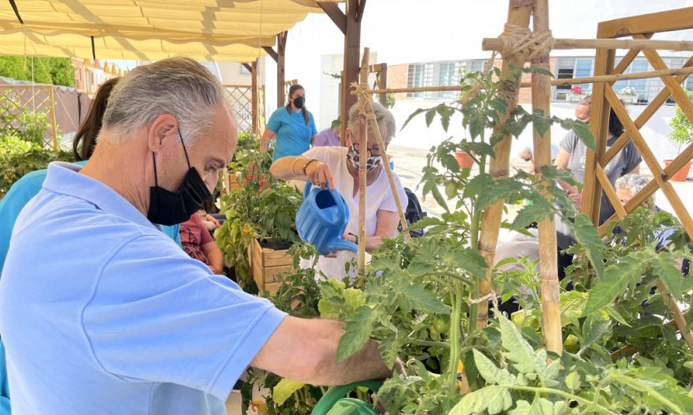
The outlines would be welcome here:
[[[0,53],[51,57],[250,62],[313,0],[15,0],[0,6]]]

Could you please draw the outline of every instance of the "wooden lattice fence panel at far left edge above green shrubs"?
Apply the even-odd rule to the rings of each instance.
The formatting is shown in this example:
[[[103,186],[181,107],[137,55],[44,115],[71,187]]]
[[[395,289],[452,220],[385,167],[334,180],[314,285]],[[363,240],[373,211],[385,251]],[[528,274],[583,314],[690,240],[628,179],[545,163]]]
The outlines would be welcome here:
[[[51,125],[44,133],[44,147],[58,148],[58,128],[55,125],[53,85],[0,84],[0,113],[10,114],[12,127],[21,127],[19,115],[26,111],[45,113]],[[4,126],[2,126],[4,127]]]

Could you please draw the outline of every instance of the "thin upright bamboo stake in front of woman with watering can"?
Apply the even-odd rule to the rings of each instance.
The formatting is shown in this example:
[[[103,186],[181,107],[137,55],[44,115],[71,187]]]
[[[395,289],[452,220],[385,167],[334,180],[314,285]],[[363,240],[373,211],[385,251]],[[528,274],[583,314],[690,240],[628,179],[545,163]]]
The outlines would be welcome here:
[[[363,48],[363,57],[361,59],[361,82],[367,82],[368,79],[368,54],[369,48]],[[368,86],[367,83],[362,84]],[[360,98],[360,104],[363,104],[363,98]],[[349,111],[347,109],[347,111]],[[366,268],[366,152],[368,148],[366,122],[363,116],[358,117],[358,182],[359,182],[359,200],[358,200],[358,273],[363,274]]]

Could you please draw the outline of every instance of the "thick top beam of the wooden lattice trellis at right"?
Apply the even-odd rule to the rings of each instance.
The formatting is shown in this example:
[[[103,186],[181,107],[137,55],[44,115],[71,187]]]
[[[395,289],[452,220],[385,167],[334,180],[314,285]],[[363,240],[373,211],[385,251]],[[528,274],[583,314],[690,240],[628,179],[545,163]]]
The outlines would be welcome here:
[[[624,37],[693,28],[693,7],[602,21],[597,37]]]

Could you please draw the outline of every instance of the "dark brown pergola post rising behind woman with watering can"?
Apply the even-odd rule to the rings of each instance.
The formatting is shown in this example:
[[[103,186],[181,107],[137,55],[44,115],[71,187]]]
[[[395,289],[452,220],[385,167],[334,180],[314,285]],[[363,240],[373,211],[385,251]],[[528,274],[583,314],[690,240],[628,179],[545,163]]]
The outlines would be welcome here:
[[[342,77],[342,100],[340,120],[342,121],[340,141],[344,145],[345,129],[349,121],[349,108],[356,103],[356,96],[351,95],[351,83],[358,82],[360,69],[359,55],[361,52],[361,23],[357,19],[358,12],[362,13],[365,0],[347,0],[347,33],[344,35],[344,76]]]

